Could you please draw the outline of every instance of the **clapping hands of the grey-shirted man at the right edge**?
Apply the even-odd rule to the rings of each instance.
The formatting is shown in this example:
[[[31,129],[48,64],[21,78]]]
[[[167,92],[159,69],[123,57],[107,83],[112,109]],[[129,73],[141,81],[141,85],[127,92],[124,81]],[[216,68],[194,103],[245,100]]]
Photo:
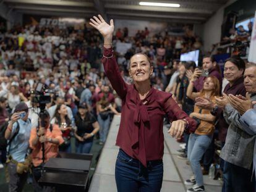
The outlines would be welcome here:
[[[249,109],[256,104],[256,101],[252,101],[250,99],[250,94],[247,92],[245,98],[242,96],[234,96],[233,94],[229,94],[229,102],[231,106],[239,112],[239,114],[244,114]]]

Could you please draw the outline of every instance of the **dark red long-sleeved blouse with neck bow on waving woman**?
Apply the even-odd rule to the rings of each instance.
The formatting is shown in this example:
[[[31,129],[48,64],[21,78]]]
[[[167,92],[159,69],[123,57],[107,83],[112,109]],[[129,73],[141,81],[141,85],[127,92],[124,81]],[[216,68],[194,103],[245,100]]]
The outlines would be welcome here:
[[[189,123],[187,131],[191,133],[194,133],[197,123],[182,111],[169,93],[152,87],[146,98],[140,100],[135,85],[127,85],[122,79],[116,59],[111,57],[113,49],[104,49],[103,54],[106,76],[122,99],[116,145],[147,167],[147,161],[163,159],[165,114],[169,120],[186,119]],[[146,104],[143,104],[145,101]]]

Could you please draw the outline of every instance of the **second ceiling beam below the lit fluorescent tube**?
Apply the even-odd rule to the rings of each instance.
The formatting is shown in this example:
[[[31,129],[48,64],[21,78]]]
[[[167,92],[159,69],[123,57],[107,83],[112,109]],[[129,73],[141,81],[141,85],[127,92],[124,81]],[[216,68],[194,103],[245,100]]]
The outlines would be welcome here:
[[[184,15],[156,15],[156,14],[138,14],[134,12],[107,12],[108,15],[124,15],[124,16],[137,16],[137,17],[154,17],[154,18],[162,18],[162,19],[187,19],[187,20],[207,20],[205,17],[189,17]]]

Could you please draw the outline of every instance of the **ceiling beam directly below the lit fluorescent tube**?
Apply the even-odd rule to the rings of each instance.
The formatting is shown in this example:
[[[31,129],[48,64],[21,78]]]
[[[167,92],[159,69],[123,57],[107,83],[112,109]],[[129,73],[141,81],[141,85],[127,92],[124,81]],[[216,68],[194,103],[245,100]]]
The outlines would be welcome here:
[[[208,14],[213,13],[212,10],[202,9],[188,9],[188,8],[173,8],[173,7],[153,7],[153,6],[133,6],[133,5],[117,5],[117,4],[105,4],[108,9],[126,9],[126,10],[147,10],[147,11],[158,11],[158,12],[176,12],[176,13],[191,13],[191,14]]]

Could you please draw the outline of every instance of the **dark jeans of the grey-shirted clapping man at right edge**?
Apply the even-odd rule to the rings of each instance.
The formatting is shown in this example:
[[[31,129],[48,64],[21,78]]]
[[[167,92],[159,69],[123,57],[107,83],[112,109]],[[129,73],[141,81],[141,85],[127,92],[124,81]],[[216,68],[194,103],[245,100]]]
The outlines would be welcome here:
[[[252,179],[252,168],[245,169],[224,161],[223,192],[255,191],[255,179]]]

